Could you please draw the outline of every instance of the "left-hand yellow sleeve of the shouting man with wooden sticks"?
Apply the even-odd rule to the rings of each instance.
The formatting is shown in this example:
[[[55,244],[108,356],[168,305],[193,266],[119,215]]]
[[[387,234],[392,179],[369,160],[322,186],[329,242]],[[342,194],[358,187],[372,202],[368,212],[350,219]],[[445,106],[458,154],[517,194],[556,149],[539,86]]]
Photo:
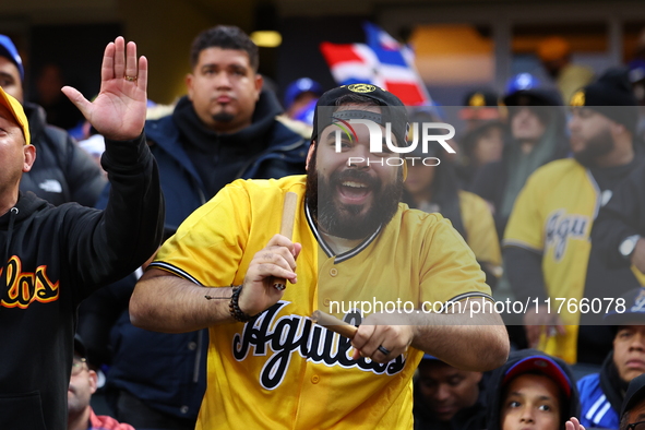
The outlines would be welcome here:
[[[236,274],[249,240],[250,213],[247,191],[235,183],[225,187],[179,226],[151,267],[204,286],[239,283]]]

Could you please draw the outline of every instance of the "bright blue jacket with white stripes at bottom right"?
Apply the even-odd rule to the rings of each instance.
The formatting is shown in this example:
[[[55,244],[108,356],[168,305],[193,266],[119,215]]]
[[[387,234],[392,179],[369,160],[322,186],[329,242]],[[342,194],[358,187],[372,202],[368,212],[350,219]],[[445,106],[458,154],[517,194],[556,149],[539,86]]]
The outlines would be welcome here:
[[[581,402],[581,423],[589,428],[618,429],[620,417],[611,407],[600,386],[600,373],[587,374],[577,382]]]

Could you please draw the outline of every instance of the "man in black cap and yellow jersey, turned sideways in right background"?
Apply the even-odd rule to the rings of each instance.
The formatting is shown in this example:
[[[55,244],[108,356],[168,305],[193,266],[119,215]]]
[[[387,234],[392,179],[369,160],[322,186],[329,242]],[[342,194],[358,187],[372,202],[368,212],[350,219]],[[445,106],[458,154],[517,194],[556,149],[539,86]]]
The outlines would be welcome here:
[[[573,95],[569,129],[574,158],[531,175],[502,242],[516,299],[539,304],[524,315],[529,345],[570,363],[602,362],[613,336],[592,324],[601,324],[602,313],[613,308],[578,313],[568,303],[618,298],[645,279],[636,279],[629,267],[609,268],[590,241],[598,208],[642,164],[643,151],[633,139],[636,105],[623,69],[610,69]],[[549,312],[547,298],[553,304],[565,300],[565,306]]]

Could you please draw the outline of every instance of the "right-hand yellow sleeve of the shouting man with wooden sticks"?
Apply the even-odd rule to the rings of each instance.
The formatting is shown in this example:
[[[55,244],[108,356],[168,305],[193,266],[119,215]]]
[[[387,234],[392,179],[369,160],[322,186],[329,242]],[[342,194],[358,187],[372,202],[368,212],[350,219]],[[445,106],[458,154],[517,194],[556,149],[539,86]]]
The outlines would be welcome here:
[[[426,240],[420,283],[422,302],[491,299],[490,287],[486,285],[475,254],[447,219],[434,223]]]

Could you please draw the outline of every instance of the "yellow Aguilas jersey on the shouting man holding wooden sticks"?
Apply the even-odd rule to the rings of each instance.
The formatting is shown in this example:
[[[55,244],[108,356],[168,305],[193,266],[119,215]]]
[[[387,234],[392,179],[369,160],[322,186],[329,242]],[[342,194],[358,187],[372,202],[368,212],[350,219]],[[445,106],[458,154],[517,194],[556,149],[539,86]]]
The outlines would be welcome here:
[[[490,297],[473,252],[440,215],[401,204],[378,234],[333,255],[316,238],[304,189],[304,176],[237,180],[195,211],[152,264],[203,286],[241,284],[279,231],[285,193],[298,194],[298,283],[254,321],[210,329],[198,429],[411,429],[411,377],[423,353],[409,348],[385,365],[351,360],[349,341],[309,316],[331,301],[374,296],[415,303]],[[351,323],[362,316],[345,312]]]

